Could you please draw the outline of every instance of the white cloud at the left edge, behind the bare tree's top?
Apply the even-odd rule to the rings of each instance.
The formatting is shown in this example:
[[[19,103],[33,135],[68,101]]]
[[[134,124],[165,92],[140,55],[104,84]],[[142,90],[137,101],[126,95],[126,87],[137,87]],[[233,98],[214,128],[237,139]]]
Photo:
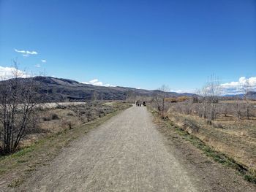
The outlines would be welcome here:
[[[31,77],[31,75],[27,74],[26,72],[22,72],[14,67],[0,66],[0,80],[11,79],[15,73],[18,74],[18,77]]]

